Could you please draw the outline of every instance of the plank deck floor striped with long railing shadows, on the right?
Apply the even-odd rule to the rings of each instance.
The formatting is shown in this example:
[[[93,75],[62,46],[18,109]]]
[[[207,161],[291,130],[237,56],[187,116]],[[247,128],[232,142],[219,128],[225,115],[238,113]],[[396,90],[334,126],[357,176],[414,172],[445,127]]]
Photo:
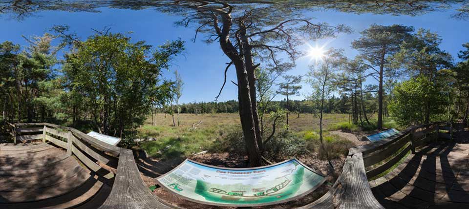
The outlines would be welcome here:
[[[370,181],[375,198],[386,209],[468,209],[469,144],[466,133],[455,135],[455,142],[420,147]]]

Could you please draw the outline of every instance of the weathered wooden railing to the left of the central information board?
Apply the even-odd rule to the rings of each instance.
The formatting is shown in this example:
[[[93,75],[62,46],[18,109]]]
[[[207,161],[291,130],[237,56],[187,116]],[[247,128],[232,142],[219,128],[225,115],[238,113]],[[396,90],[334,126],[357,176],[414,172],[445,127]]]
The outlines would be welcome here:
[[[15,143],[42,140],[64,148],[68,155],[74,155],[102,180],[112,184],[106,201],[96,208],[179,209],[151,193],[140,177],[132,150],[109,145],[71,127],[48,123],[14,124],[12,127]]]

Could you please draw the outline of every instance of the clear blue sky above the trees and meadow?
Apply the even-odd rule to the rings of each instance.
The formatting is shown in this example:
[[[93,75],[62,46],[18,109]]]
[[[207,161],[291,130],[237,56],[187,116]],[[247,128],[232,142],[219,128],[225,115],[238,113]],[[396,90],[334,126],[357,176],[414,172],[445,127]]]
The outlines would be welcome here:
[[[448,51],[456,59],[461,46],[469,42],[468,21],[451,19],[453,11],[442,11],[426,14],[423,16],[390,16],[362,14],[354,15],[340,12],[318,11],[308,12],[307,17],[316,18],[315,21],[328,22],[330,24],[346,24],[353,28],[352,34],[339,34],[335,39],[319,40],[318,45],[327,43],[326,48],[343,48],[345,54],[353,58],[357,51],[350,47],[350,42],[360,37],[359,32],[366,29],[370,24],[403,24],[417,28],[427,28],[432,32],[437,32],[443,42],[441,48]],[[207,44],[198,39],[195,43],[191,40],[194,36],[193,28],[174,26],[174,21],[180,17],[161,14],[154,10],[121,10],[121,9],[101,9],[100,13],[69,13],[69,12],[42,12],[38,16],[27,18],[23,21],[12,20],[7,16],[0,16],[0,24],[3,28],[0,33],[0,42],[11,41],[23,46],[27,45],[21,35],[42,35],[53,25],[67,24],[71,31],[80,37],[86,38],[93,34],[91,28],[102,29],[110,26],[111,32],[129,32],[133,41],[144,40],[152,45],[160,45],[167,40],[181,38],[186,41],[186,52],[184,56],[179,56],[171,69],[165,72],[165,76],[171,78],[172,71],[178,70],[185,83],[182,103],[213,101],[218,94],[223,83],[223,72],[225,63],[229,60],[223,55],[218,43]],[[202,37],[202,36],[199,36]],[[315,45],[316,42],[309,44]],[[306,44],[305,44],[306,45]],[[297,67],[288,72],[292,75],[304,75],[308,70],[308,65],[313,64],[309,58],[301,58],[297,61]],[[229,70],[228,81],[236,80],[234,68]],[[373,81],[367,81],[373,83]],[[301,95],[294,99],[303,99],[302,95],[308,94],[311,89],[307,84],[303,84]],[[232,100],[237,98],[237,91],[234,84],[227,83],[220,96],[219,101]],[[276,100],[283,99],[281,96]]]

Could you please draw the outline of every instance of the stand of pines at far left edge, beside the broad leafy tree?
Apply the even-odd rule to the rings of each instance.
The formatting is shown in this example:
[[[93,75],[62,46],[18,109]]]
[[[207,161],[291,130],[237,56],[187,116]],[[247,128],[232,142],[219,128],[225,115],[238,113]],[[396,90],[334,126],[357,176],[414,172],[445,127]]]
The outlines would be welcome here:
[[[44,121],[60,111],[53,109],[57,106],[48,106],[57,98],[43,97],[52,93],[51,85],[57,84],[53,69],[57,48],[51,45],[55,37],[44,34],[25,39],[30,44],[22,51],[12,42],[0,44],[2,117],[9,121]]]

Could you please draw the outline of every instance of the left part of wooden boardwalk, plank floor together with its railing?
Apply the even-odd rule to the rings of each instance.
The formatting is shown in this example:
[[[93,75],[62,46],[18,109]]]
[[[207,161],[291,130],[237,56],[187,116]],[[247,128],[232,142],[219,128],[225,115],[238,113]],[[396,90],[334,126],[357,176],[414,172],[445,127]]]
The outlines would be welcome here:
[[[35,143],[0,144],[0,209],[179,209],[151,193],[132,150],[70,127],[9,125],[14,144]]]

